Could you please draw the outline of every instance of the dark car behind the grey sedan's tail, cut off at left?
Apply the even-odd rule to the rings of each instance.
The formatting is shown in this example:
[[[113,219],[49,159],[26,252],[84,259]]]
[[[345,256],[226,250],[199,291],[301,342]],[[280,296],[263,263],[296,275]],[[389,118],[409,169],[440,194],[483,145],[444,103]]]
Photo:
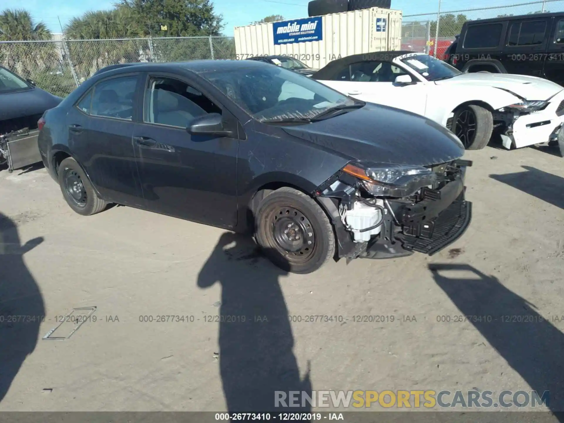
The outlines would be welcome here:
[[[0,66],[0,169],[9,171],[41,161],[38,121],[61,98]]]

